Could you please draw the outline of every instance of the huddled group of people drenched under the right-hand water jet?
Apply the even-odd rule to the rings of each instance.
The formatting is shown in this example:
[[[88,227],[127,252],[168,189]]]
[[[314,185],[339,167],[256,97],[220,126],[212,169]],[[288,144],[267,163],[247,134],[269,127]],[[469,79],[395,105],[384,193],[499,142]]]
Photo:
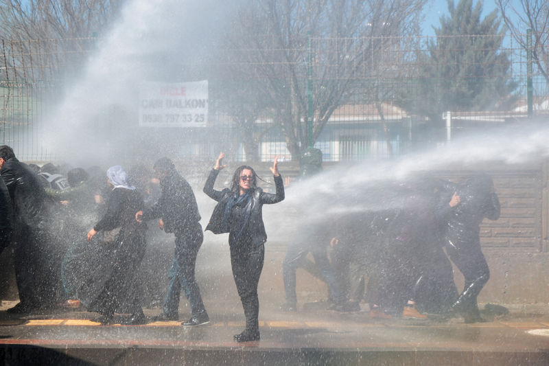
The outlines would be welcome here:
[[[480,223],[500,216],[491,176],[479,173],[455,184],[418,174],[361,191],[347,192],[348,201],[344,194],[334,198],[330,205],[341,209],[299,225],[283,260],[281,310],[296,311],[296,269],[312,253],[311,272],[325,280],[333,310],[360,310],[365,300],[372,318],[425,319],[427,312],[484,321],[477,297],[489,268],[480,248]],[[461,293],[450,260],[465,277]]]

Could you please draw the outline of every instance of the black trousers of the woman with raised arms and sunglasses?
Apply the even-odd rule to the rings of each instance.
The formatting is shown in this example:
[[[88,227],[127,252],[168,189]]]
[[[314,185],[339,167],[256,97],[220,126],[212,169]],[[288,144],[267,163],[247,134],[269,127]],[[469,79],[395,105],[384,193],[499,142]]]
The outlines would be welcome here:
[[[259,332],[259,298],[257,285],[263,270],[265,245],[235,242],[231,245],[233,278],[246,317],[246,330]]]

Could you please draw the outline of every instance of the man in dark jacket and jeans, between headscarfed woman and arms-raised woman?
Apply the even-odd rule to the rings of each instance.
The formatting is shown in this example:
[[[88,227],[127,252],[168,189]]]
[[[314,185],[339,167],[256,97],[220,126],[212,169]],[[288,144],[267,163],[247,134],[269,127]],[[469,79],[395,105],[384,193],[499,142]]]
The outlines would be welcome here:
[[[191,319],[182,325],[206,324],[209,318],[194,275],[196,256],[204,239],[196,198],[191,185],[180,176],[170,159],[159,159],[153,168],[160,179],[161,196],[152,207],[138,211],[135,218],[139,222],[160,218],[160,229],[174,233],[176,237],[163,312],[155,320],[178,320],[179,297],[183,288],[191,307]]]

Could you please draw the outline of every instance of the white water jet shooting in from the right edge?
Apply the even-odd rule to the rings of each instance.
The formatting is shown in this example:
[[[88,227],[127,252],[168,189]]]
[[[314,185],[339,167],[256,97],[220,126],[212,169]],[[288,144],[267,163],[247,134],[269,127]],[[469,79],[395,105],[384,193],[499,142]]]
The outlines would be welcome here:
[[[549,156],[548,139],[544,121],[495,126],[401,159],[340,164],[289,187],[285,205],[275,210],[300,207],[305,222],[329,222],[330,217],[399,209],[409,194],[403,186],[423,185],[430,172],[540,163]]]

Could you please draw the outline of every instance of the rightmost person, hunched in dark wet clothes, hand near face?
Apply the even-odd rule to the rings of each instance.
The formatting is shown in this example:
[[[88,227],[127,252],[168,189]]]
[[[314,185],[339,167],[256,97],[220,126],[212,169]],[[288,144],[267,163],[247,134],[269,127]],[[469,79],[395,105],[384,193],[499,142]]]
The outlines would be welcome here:
[[[463,292],[452,308],[463,315],[465,323],[482,322],[477,297],[490,271],[480,248],[480,223],[484,218],[500,218],[500,201],[491,176],[477,174],[447,192],[437,216],[445,222],[446,252],[465,277]]]

